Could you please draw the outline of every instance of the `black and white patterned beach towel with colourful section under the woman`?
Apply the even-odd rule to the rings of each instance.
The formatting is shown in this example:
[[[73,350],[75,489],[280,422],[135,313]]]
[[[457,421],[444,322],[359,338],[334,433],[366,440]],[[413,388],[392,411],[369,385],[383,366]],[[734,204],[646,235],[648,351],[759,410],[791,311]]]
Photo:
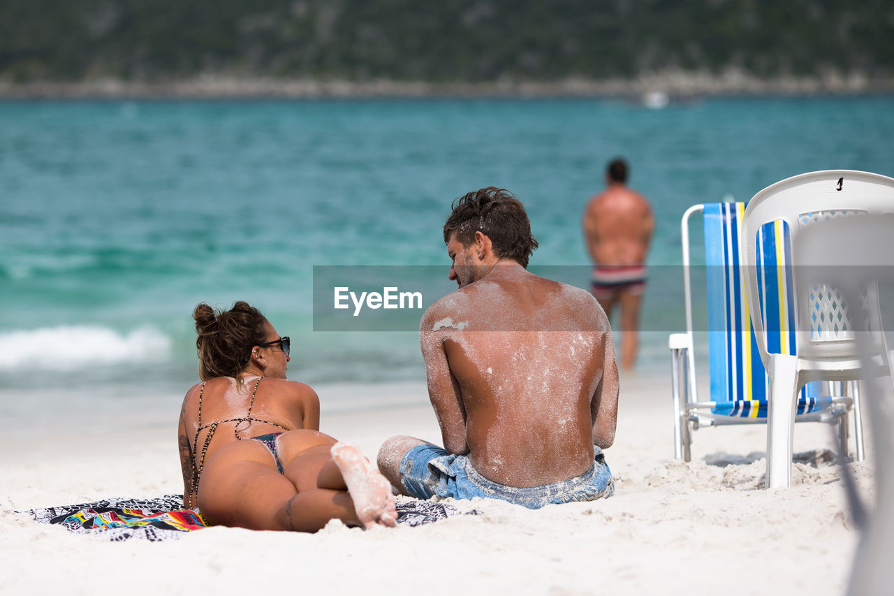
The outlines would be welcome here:
[[[183,532],[207,527],[195,509],[183,507],[182,495],[159,498],[106,498],[93,503],[61,507],[38,507],[24,512],[41,524],[62,524],[70,532],[102,532],[110,541],[141,538],[164,541],[180,538]],[[397,523],[409,526],[431,524],[460,510],[447,503],[409,500],[398,502]],[[480,515],[477,510],[467,515]]]

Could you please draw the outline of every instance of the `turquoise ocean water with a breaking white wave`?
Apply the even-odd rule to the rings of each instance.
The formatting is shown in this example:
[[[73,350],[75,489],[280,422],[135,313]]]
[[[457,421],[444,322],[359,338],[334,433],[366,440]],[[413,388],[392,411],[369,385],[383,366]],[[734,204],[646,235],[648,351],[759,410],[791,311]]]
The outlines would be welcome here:
[[[292,337],[293,379],[422,380],[412,331],[313,330],[313,267],[446,277],[451,200],[496,185],[527,203],[532,266],[582,266],[585,286],[580,215],[615,155],[657,215],[641,367],[663,371],[683,210],[818,169],[894,175],[892,138],[885,97],[3,102],[0,407],[181,396],[200,301],[264,311]]]

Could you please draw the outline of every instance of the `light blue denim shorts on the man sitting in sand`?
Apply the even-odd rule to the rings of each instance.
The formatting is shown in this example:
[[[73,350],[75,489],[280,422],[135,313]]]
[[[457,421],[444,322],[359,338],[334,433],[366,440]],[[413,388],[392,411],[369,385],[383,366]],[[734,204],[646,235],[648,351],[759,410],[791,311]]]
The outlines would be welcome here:
[[[467,456],[451,455],[434,445],[419,445],[401,460],[401,485],[410,497],[499,498],[529,509],[608,498],[614,494],[614,481],[602,449],[594,448],[595,461],[588,472],[567,481],[519,489],[486,479]]]

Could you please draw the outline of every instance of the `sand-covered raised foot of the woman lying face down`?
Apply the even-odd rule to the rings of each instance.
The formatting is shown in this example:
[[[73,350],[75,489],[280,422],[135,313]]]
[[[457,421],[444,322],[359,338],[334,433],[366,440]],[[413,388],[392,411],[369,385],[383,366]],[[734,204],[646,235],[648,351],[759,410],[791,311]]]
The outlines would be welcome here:
[[[356,445],[339,442],[333,445],[332,456],[348,485],[360,522],[367,529],[375,524],[395,525],[397,509],[391,483],[369,463],[360,449]]]

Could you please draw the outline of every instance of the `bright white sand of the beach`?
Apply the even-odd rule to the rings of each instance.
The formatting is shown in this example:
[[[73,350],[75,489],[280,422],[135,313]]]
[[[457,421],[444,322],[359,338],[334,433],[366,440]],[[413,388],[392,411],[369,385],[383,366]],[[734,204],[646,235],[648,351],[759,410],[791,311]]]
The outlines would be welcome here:
[[[317,389],[324,404],[335,391],[364,390]],[[322,430],[357,442],[370,458],[393,434],[439,440],[425,387],[374,390],[418,405],[350,413],[324,405]],[[456,502],[484,515],[368,532],[333,522],[316,534],[215,527],[164,542],[71,534],[13,511],[181,493],[177,412],[128,432],[103,432],[101,424],[86,432],[75,423],[55,434],[36,427],[30,437],[7,434],[0,438],[0,592],[844,592],[857,533],[834,466],[796,464],[791,489],[761,490],[764,460],[750,454],[764,451],[765,427],[698,430],[693,462],[684,464],[672,459],[669,379],[622,377],[620,400],[617,438],[606,451],[614,497],[538,511]],[[797,426],[796,452],[827,447],[826,426]],[[853,464],[866,498],[871,457]]]

